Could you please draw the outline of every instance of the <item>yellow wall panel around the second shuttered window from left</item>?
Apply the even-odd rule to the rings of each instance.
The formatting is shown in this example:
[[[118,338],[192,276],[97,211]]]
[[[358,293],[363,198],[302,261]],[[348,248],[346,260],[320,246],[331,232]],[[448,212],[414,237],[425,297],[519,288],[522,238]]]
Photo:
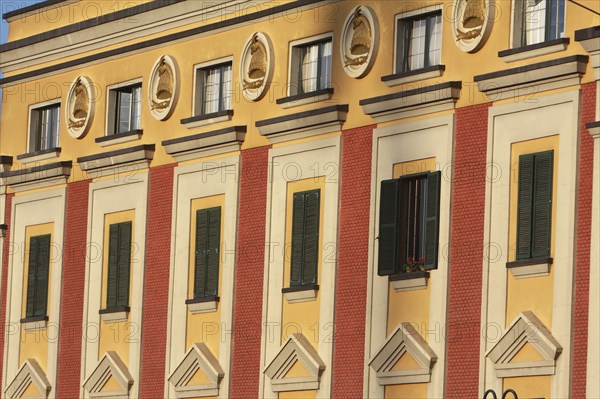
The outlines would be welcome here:
[[[133,276],[134,269],[140,267],[135,263],[135,251],[137,245],[133,240],[135,237],[135,210],[128,210],[122,212],[109,213],[104,215],[104,247],[103,247],[103,261],[102,261],[102,300],[100,302],[102,308],[106,307],[106,294],[107,294],[107,280],[108,280],[108,239],[110,233],[110,225],[122,222],[132,222],[131,226],[131,269],[129,271],[130,276]],[[129,305],[133,301],[141,301],[141,298],[131,297],[131,285],[133,284],[133,278],[129,279]],[[115,351],[125,365],[129,364],[129,346],[132,343],[137,342],[139,338],[136,335],[139,334],[142,326],[137,326],[129,322],[129,314],[127,314],[127,321],[122,322],[104,322],[100,320],[100,342],[98,346],[98,359],[104,356],[104,353],[108,351]],[[139,336],[139,335],[138,335]]]

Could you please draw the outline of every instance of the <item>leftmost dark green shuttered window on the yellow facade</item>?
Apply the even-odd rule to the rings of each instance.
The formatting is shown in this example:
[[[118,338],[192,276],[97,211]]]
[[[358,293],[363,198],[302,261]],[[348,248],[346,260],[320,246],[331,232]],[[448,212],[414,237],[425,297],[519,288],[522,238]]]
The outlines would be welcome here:
[[[49,268],[50,234],[31,237],[29,239],[26,318],[46,316]]]

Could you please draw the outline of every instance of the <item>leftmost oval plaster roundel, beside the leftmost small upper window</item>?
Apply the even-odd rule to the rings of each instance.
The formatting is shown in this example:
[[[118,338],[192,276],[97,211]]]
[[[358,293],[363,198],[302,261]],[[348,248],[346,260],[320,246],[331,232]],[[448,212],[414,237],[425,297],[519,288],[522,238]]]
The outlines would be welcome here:
[[[94,118],[95,99],[94,86],[89,78],[79,76],[71,83],[65,117],[67,131],[74,139],[80,139],[88,132]]]

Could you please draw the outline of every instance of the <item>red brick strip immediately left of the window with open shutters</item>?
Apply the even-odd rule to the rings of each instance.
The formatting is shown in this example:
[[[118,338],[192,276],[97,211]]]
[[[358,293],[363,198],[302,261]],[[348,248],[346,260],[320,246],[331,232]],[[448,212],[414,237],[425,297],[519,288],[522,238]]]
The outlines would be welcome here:
[[[342,132],[340,222],[335,297],[333,397],[362,398],[373,128]],[[360,351],[359,351],[360,352]]]

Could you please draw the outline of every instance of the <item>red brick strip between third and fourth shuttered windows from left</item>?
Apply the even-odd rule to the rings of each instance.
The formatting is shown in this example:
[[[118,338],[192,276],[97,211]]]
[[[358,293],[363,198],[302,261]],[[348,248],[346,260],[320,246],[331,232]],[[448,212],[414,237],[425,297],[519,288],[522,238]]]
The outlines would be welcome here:
[[[258,397],[270,146],[242,151],[230,398]]]

